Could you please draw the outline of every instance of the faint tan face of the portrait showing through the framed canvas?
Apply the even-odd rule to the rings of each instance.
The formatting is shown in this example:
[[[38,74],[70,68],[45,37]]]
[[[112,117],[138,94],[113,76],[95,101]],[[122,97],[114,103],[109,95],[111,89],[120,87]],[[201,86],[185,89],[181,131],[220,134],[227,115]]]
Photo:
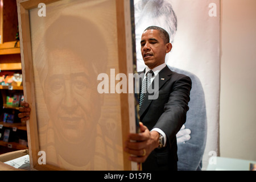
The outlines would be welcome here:
[[[85,67],[85,63],[90,62],[68,50],[53,51],[48,56],[44,96],[49,117],[57,137],[70,143],[90,138],[101,105],[96,81],[90,79],[90,65]]]

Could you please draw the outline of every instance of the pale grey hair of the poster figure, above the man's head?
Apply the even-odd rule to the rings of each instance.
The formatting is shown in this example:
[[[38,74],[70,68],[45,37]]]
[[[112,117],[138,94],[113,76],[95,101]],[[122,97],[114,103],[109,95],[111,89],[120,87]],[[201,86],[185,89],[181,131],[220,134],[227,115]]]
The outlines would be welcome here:
[[[134,13],[135,26],[144,23],[145,19],[143,18],[148,18],[154,22],[154,24],[151,23],[148,26],[164,28],[169,33],[170,42],[173,42],[177,31],[177,17],[170,2],[165,0],[141,0],[134,5]]]

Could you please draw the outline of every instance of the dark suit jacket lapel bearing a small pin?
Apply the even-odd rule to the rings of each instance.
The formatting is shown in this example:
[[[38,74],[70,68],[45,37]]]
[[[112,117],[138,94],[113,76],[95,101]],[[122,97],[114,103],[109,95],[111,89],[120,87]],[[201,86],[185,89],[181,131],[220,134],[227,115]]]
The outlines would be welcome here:
[[[158,75],[154,78],[154,81],[152,81],[152,84],[151,84],[150,88],[148,89],[146,96],[144,97],[144,100],[141,105],[141,109],[139,110],[139,115],[142,115],[144,113],[144,111],[147,109],[147,107],[151,104],[152,100],[158,98],[159,90],[170,79],[171,75],[172,75],[172,71],[167,66],[164,67],[158,73]],[[158,82],[155,80],[157,80]],[[157,87],[155,88],[155,84],[159,85],[158,88]],[[141,90],[141,83],[140,83],[140,90]],[[150,96],[151,98],[148,99],[148,96]]]

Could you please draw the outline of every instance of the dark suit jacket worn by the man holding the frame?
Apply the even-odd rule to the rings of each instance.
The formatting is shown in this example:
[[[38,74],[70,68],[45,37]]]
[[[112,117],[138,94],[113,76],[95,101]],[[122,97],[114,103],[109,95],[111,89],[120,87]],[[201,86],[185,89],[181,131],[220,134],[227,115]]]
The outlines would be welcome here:
[[[144,71],[139,74],[144,74]],[[154,78],[139,115],[141,122],[149,130],[155,127],[161,129],[166,134],[167,141],[165,147],[151,152],[142,164],[143,170],[177,170],[176,134],[186,121],[191,86],[188,76],[172,72],[167,66]],[[150,93],[153,99],[148,99]]]

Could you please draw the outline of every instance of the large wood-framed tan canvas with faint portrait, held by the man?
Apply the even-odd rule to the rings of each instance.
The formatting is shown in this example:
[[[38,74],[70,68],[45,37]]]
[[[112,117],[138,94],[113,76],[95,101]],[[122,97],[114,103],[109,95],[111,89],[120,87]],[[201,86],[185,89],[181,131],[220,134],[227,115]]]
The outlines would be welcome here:
[[[44,4],[39,6],[39,3]],[[17,0],[24,100],[31,107],[30,120],[27,121],[31,168],[38,170],[138,169],[137,163],[128,160],[129,155],[123,152],[122,146],[127,135],[137,131],[138,122],[137,124],[135,122],[135,110],[138,107],[135,104],[134,93],[96,93],[97,85],[94,84],[100,81],[92,76],[106,73],[111,79],[115,78],[110,75],[113,73],[113,68],[115,75],[117,73],[128,75],[136,70],[134,67],[135,43],[132,34],[134,19],[131,6],[133,6],[133,1],[129,0],[78,0],[75,2],[70,0]],[[86,8],[82,9],[82,7]],[[39,11],[42,13],[43,10],[46,10],[43,12],[46,16],[39,14]],[[72,19],[72,16],[79,18]],[[65,19],[60,19],[60,17]],[[79,20],[80,18],[86,19],[85,25]],[[57,21],[62,24],[58,24]],[[97,28],[89,30],[94,26],[98,27],[99,31],[96,30]],[[59,31],[62,28],[65,31]],[[81,32],[80,29],[84,31],[82,36],[77,33]],[[63,32],[68,31],[73,31],[73,33],[62,35]],[[91,40],[91,37],[95,39]],[[73,41],[69,42],[71,40]],[[66,44],[68,48],[64,47]],[[58,49],[56,50],[54,46]],[[57,53],[60,49],[61,53]],[[69,54],[69,51],[72,53]],[[85,53],[86,56],[81,56],[82,59],[77,58],[80,53],[81,55]],[[85,57],[89,59],[85,60]],[[78,60],[82,61],[78,62]],[[77,65],[80,66],[77,67]],[[105,69],[102,70],[102,67]],[[75,73],[81,68],[86,68],[85,73],[92,73],[82,84],[81,79],[77,78],[80,75],[77,76]],[[64,71],[63,77],[59,77],[62,74],[62,72],[59,74],[60,71]],[[72,76],[68,75],[69,71]],[[59,75],[53,74],[50,77],[52,73]],[[71,87],[72,99],[69,100],[66,82],[73,85]],[[74,86],[74,82],[77,85]],[[117,83],[116,80],[115,83]],[[86,84],[90,86],[84,87]],[[76,86],[77,90],[75,90]],[[81,94],[83,89],[87,90],[85,96],[88,101],[81,102],[84,97],[80,97],[80,101],[77,101],[78,96],[75,98],[75,94]],[[94,90],[89,91],[90,89]],[[64,92],[65,94],[62,95]],[[69,110],[65,108],[67,110],[63,111],[62,116],[59,111],[62,105],[57,105],[59,102],[56,101],[60,96],[64,96],[61,100],[63,103],[65,100],[67,107],[70,106]],[[98,100],[92,101],[92,98]],[[73,106],[75,101],[77,105]],[[77,113],[71,110],[82,106],[85,108]],[[84,124],[86,127],[79,122],[81,121],[79,114],[85,110],[87,114],[84,115],[88,123],[91,123],[86,122]],[[97,113],[97,110],[101,112]],[[67,113],[72,117],[69,117]],[[89,118],[88,115],[91,117]],[[63,120],[60,121],[60,118]],[[97,122],[94,124],[92,121]],[[89,135],[90,133],[92,135]],[[84,144],[80,141],[81,138],[83,138],[82,141],[86,138],[90,142]],[[81,147],[83,144],[87,147]]]

